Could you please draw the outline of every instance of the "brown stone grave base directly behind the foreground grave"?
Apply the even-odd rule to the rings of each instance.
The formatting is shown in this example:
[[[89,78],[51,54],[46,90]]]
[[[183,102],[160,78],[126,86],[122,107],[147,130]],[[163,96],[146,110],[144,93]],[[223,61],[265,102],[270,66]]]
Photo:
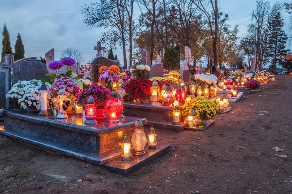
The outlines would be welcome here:
[[[180,107],[182,109],[182,107]],[[183,131],[186,124],[182,122],[181,125],[173,125],[173,108],[166,106],[151,106],[150,104],[136,104],[134,102],[124,103],[124,115],[137,116],[147,119],[147,124],[153,127],[163,129]],[[183,120],[183,119],[181,119]]]

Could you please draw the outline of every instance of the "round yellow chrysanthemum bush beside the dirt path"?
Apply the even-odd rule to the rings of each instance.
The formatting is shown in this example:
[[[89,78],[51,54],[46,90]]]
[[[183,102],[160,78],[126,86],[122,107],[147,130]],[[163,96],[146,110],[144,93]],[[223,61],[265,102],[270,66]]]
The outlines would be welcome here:
[[[219,112],[219,108],[215,102],[208,100],[205,97],[195,97],[188,102],[185,102],[182,107],[182,115],[187,116],[191,109],[196,111],[199,119],[211,119]]]

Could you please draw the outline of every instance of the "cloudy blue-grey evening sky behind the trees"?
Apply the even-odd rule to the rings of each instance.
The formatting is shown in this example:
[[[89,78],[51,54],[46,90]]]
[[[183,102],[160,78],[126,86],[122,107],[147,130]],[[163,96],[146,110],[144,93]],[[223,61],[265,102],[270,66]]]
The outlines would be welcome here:
[[[44,53],[55,49],[55,59],[60,58],[63,49],[74,47],[88,63],[95,55],[93,47],[101,38],[102,28],[87,27],[83,23],[81,6],[91,0],[1,0],[0,25],[7,24],[11,45],[19,32],[25,49],[25,57],[44,57]],[[270,0],[273,4],[276,0]],[[289,0],[286,0],[289,1]],[[284,0],[280,0],[284,2]],[[239,37],[246,35],[246,25],[256,0],[220,0],[221,11],[230,17],[231,25],[239,25]],[[136,8],[135,15],[139,15]],[[283,13],[285,30],[288,33],[288,16]],[[289,32],[291,34],[291,32]],[[0,41],[2,36],[0,37]],[[0,49],[2,45],[0,45]],[[292,47],[289,47],[292,49]],[[123,64],[122,49],[113,51]]]

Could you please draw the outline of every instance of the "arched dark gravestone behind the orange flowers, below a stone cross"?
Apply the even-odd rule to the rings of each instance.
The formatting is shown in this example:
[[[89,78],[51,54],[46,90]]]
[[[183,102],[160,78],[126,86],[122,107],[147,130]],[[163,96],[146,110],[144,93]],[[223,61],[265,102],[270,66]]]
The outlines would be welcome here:
[[[111,65],[120,65],[119,61],[115,61],[115,60],[110,60],[106,57],[95,57],[92,62],[91,62],[91,71],[92,71],[92,77],[91,77],[91,81],[92,83],[97,83],[99,82],[99,73],[98,73],[98,69],[101,66],[108,66],[110,67]]]

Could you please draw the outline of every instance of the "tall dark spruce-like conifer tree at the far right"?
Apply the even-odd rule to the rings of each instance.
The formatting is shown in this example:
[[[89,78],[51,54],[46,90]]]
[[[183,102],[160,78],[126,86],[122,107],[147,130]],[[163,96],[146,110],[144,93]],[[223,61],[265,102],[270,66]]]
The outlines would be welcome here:
[[[285,49],[288,39],[287,34],[283,30],[283,18],[278,12],[271,23],[271,32],[268,35],[267,49],[265,58],[274,66],[274,73],[276,72],[276,65],[280,65],[283,55],[286,55],[288,50]]]

